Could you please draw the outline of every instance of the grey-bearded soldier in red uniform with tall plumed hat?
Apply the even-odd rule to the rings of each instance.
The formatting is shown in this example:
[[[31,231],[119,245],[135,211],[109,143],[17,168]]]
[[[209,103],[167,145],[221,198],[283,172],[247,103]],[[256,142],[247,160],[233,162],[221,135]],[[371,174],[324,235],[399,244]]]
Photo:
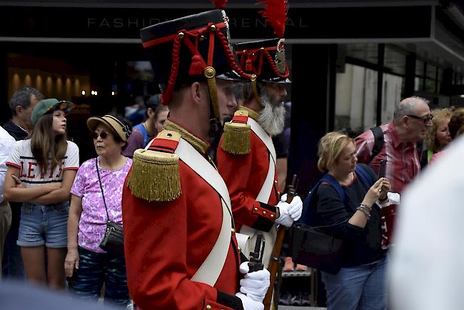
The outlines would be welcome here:
[[[263,16],[276,16],[277,12]],[[282,1],[281,22],[285,25],[286,1]],[[243,104],[231,123],[226,123],[218,147],[218,171],[226,181],[231,196],[233,217],[237,229],[251,236],[251,248],[258,231],[266,240],[263,263],[268,265],[276,240],[276,224],[291,226],[301,216],[300,197],[290,204],[281,197],[276,174],[276,151],[271,136],[281,133],[284,125],[288,67],[283,47],[283,29],[274,27],[277,39],[236,45],[241,69],[252,74],[251,82],[243,86]],[[279,39],[280,38],[280,39]]]

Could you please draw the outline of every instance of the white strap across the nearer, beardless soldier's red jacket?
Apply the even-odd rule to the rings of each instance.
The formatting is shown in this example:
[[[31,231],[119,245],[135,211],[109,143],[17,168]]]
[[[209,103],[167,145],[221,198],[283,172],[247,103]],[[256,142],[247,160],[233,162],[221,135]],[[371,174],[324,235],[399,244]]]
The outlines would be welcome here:
[[[231,199],[228,195],[228,189],[218,171],[203,157],[196,149],[181,139],[178,143],[176,154],[186,163],[193,171],[196,172],[203,180],[215,189],[221,196],[222,204],[222,226],[219,232],[216,244],[206,257],[203,264],[192,277],[192,281],[197,281],[214,286],[223,269],[228,249],[231,244],[232,228],[232,211]]]

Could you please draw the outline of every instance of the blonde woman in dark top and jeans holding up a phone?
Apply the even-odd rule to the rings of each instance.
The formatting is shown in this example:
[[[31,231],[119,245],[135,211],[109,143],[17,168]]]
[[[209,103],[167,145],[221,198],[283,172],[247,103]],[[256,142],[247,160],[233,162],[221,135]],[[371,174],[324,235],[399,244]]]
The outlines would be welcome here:
[[[317,191],[317,215],[323,225],[333,225],[333,236],[343,239],[342,268],[337,274],[321,271],[326,285],[328,310],[387,309],[385,250],[381,247],[380,208],[388,204],[388,179],[377,177],[364,164],[360,168],[370,182],[365,184],[356,169],[358,159],[353,139],[339,132],[323,136],[318,148],[318,169],[338,181],[344,201],[331,184]]]

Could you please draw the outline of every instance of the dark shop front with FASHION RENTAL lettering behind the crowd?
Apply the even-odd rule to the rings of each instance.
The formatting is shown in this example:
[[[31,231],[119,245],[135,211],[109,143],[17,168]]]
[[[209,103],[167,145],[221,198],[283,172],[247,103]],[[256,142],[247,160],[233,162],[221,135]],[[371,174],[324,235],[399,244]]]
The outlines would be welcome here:
[[[288,175],[300,176],[301,194],[319,177],[317,142],[327,131],[357,134],[389,121],[406,96],[424,96],[431,108],[463,105],[460,1],[288,2]],[[81,104],[81,119],[123,111],[158,91],[139,29],[206,9],[210,1],[0,1],[0,98],[29,84]],[[273,37],[255,1],[228,1],[227,13],[233,41]]]

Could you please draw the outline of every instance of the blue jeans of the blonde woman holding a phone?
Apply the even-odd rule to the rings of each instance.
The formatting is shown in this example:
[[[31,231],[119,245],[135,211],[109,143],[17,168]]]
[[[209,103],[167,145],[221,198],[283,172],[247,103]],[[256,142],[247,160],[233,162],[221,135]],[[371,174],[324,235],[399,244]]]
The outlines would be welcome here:
[[[338,274],[322,271],[326,285],[328,310],[387,309],[387,259],[370,264],[342,268]]]

